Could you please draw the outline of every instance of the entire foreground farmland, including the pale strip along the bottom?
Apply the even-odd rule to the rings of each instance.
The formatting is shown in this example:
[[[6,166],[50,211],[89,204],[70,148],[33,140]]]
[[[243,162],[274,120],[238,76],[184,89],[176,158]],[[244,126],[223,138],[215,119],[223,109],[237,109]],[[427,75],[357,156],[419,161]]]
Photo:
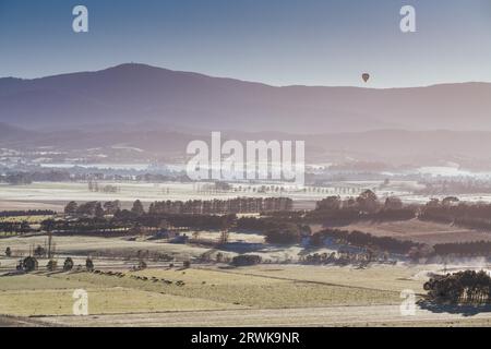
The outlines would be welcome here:
[[[85,272],[2,276],[0,313],[62,326],[491,324],[491,313],[487,311],[468,316],[417,308],[414,316],[403,316],[400,291],[421,291],[427,272],[403,265],[363,270],[209,266],[152,268],[125,272],[121,277]],[[75,289],[87,291],[89,316],[72,316]]]

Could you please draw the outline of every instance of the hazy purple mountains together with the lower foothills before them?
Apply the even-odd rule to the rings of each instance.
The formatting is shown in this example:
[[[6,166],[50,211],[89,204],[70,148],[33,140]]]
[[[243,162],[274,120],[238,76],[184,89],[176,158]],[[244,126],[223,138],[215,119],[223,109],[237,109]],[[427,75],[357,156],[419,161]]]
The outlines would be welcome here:
[[[224,139],[240,141],[306,141],[310,163],[488,168],[490,111],[490,83],[275,87],[122,64],[35,80],[0,79],[0,148],[56,149],[67,157],[101,152],[113,160],[127,149],[135,160],[176,159],[185,155],[190,141],[209,142],[211,131],[221,131]]]

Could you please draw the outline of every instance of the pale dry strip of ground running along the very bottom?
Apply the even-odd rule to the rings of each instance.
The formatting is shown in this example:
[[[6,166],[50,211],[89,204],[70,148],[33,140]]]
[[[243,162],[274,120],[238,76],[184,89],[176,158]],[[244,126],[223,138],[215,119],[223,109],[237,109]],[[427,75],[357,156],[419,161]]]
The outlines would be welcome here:
[[[68,326],[491,326],[491,312],[439,313],[417,309],[402,316],[397,305],[169,312],[96,316],[53,316],[43,321]]]

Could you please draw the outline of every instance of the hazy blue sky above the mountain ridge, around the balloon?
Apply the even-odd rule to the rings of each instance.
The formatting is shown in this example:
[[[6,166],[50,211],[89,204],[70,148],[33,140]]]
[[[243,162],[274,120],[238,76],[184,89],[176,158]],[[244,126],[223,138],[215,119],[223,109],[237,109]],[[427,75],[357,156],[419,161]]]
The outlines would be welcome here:
[[[89,33],[72,31],[76,4]],[[491,0],[0,0],[0,76],[124,62],[273,85],[491,82]]]

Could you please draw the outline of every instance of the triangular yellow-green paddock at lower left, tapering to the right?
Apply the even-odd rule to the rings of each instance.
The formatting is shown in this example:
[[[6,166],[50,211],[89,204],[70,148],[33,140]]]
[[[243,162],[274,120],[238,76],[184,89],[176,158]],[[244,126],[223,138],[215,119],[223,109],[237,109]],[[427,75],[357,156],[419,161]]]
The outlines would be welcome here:
[[[88,293],[91,314],[153,313],[238,308],[206,299],[166,294],[137,288],[107,287],[58,274],[0,277],[0,314],[17,316],[71,315],[73,292]]]

